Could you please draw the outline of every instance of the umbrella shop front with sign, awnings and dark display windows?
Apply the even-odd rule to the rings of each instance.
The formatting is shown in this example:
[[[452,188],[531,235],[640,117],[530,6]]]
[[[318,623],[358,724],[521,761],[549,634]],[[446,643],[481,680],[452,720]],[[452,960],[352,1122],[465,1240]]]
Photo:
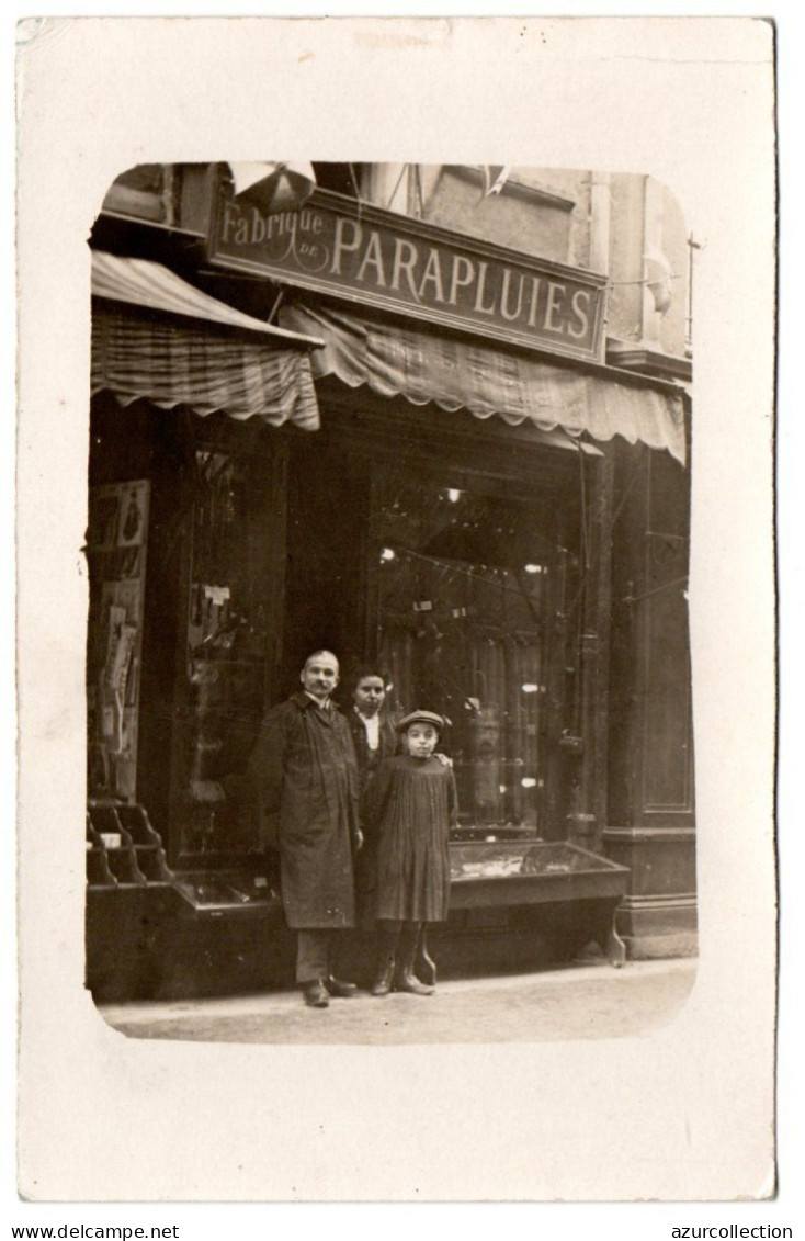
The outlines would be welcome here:
[[[259,282],[270,324],[93,256],[88,985],[293,977],[275,856],[248,807],[192,789],[319,648],[345,710],[370,661],[389,710],[451,721],[443,969],[620,963],[613,560],[635,470],[682,470],[678,390],[604,365],[593,273],[325,191],[295,225],[211,207],[200,269]]]

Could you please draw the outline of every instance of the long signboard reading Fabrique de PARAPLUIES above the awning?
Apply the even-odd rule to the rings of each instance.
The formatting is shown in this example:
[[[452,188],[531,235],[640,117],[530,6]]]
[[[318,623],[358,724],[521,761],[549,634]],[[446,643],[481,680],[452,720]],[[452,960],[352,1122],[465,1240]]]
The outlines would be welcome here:
[[[267,215],[222,192],[212,263],[531,349],[602,360],[605,277],[316,190]]]

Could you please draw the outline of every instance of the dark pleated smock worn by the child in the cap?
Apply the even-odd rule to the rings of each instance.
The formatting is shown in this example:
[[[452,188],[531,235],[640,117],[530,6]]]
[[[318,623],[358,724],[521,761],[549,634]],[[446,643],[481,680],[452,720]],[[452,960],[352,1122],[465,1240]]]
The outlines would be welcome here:
[[[438,758],[398,755],[381,763],[366,789],[366,822],[377,838],[377,918],[447,920],[456,810],[453,769]]]

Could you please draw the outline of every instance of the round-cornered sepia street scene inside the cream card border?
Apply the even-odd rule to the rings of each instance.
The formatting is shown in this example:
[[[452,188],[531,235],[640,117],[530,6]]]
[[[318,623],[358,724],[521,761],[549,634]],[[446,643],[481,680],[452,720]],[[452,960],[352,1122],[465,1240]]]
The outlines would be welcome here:
[[[88,486],[148,546],[117,627],[128,563],[89,568],[88,647],[117,644],[87,663],[87,987],[115,1029],[533,1041],[675,1015],[698,246],[639,172],[115,177]],[[391,999],[322,1025],[294,984]]]

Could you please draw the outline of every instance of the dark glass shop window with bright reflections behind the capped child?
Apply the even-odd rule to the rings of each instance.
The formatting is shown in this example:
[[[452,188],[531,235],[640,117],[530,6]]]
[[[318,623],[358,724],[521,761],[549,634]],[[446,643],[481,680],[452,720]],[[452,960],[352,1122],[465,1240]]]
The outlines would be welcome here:
[[[397,710],[450,720],[459,836],[542,835],[547,689],[568,660],[553,650],[546,510],[411,482],[385,500],[376,534],[381,661]]]

